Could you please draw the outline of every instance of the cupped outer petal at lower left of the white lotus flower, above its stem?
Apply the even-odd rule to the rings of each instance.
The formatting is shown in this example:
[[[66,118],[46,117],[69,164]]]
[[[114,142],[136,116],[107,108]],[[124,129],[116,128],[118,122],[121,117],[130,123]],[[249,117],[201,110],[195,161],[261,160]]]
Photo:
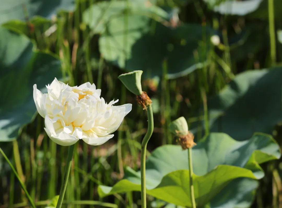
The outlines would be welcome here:
[[[62,146],[70,146],[75,144],[79,138],[76,138],[74,136],[71,136],[64,131],[60,132],[58,135],[55,132],[53,122],[51,118],[48,116],[45,117],[45,131],[47,135],[52,139],[53,142],[62,145]]]

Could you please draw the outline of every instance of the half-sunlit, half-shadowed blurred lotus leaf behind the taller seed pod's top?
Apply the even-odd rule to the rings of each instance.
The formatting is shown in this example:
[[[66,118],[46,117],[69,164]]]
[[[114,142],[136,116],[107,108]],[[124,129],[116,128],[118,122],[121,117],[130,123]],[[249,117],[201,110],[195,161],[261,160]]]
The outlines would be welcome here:
[[[105,59],[127,71],[142,70],[144,77],[161,76],[166,60],[168,78],[174,79],[205,63],[208,50],[199,45],[203,31],[209,39],[210,28],[204,30],[200,24],[169,28],[141,15],[128,15],[125,24],[125,17],[119,16],[106,25],[99,46]],[[195,50],[199,58],[194,57]]]

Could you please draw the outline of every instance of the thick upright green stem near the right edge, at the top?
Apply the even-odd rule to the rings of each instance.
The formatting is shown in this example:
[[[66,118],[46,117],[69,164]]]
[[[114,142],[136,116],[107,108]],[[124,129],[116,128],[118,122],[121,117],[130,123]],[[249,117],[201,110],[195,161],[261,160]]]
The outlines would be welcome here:
[[[275,26],[274,26],[274,2],[268,0],[268,21],[269,21],[269,35],[270,35],[270,58],[271,65],[276,63],[276,44],[275,44]]]

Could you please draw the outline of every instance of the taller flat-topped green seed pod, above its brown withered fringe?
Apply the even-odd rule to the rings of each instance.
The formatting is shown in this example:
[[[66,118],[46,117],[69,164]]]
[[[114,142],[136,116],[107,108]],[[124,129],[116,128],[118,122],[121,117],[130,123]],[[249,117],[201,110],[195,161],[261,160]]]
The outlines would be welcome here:
[[[122,74],[118,76],[118,79],[122,81],[124,86],[134,93],[135,95],[141,95],[142,94],[142,87],[141,87],[141,75],[143,71],[132,71],[129,73]]]

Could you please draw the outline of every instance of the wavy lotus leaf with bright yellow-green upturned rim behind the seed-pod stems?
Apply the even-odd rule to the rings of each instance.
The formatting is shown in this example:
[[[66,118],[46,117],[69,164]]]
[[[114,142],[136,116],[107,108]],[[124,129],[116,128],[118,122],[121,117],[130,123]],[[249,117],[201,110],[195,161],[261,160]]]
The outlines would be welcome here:
[[[270,135],[255,133],[239,142],[224,133],[211,133],[193,147],[192,155],[195,199],[203,206],[236,178],[263,177],[258,164],[277,159],[281,153]],[[188,167],[187,150],[174,145],[157,148],[146,161],[147,193],[169,203],[191,206]],[[140,172],[127,169],[124,179],[113,187],[98,187],[102,197],[127,191],[140,191]]]

